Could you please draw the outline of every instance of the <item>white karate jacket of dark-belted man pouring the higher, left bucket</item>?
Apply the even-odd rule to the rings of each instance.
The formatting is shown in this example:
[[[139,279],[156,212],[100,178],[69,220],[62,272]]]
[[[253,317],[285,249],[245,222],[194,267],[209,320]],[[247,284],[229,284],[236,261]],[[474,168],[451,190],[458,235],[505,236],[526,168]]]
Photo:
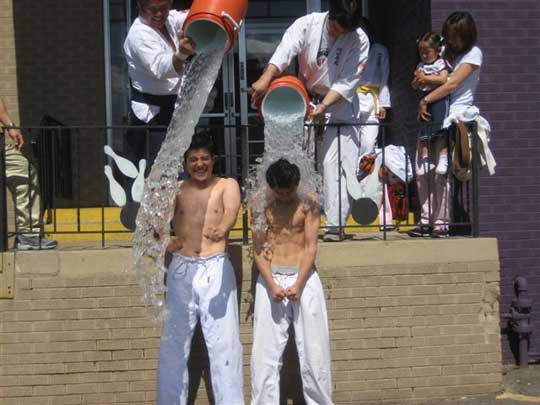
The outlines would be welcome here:
[[[187,11],[171,10],[165,23],[171,39],[178,49],[178,33],[187,17]],[[131,85],[142,93],[171,95],[178,93],[180,75],[174,69],[171,48],[163,35],[137,17],[124,42]],[[158,106],[131,102],[133,112],[141,121],[149,122],[159,113]]]

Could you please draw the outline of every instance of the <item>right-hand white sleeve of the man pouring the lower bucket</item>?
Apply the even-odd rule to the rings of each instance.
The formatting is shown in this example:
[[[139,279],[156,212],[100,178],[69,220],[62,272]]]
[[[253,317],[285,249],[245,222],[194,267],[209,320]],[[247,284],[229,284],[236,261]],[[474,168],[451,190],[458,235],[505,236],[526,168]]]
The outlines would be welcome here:
[[[356,88],[360,84],[360,76],[364,71],[369,55],[369,39],[360,28],[356,31],[359,37],[359,46],[349,47],[343,62],[343,69],[337,80],[332,83],[330,90],[338,92],[345,100],[352,103],[356,95]]]

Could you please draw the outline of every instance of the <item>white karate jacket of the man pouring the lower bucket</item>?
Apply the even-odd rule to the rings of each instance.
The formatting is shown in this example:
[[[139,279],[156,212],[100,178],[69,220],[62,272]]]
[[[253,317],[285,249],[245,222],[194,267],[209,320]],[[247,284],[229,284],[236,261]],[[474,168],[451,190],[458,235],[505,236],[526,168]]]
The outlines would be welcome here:
[[[319,66],[317,53],[327,16],[328,12],[325,12],[298,18],[285,31],[269,63],[283,72],[297,56],[299,77],[307,90],[322,96],[329,90],[338,92],[347,102],[330,106],[329,112],[334,118],[340,116],[350,121],[353,115],[351,103],[356,98],[356,88],[367,61],[369,39],[360,28],[340,35],[333,44],[328,44],[328,57]]]

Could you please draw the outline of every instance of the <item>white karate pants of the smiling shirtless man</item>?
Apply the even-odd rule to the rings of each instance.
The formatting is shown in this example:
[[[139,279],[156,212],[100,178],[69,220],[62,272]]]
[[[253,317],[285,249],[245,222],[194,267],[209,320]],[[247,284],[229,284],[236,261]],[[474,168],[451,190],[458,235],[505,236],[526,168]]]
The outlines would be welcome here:
[[[167,318],[159,349],[158,405],[184,405],[187,361],[201,320],[217,405],[243,405],[242,346],[236,279],[227,254],[173,256],[167,275]]]

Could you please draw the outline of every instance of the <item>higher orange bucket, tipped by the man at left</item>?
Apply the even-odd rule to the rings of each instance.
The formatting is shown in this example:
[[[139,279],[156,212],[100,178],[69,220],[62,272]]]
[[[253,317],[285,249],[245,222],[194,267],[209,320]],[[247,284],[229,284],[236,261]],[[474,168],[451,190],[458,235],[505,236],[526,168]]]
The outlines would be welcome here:
[[[194,0],[184,32],[197,52],[228,51],[247,13],[247,0]]]

